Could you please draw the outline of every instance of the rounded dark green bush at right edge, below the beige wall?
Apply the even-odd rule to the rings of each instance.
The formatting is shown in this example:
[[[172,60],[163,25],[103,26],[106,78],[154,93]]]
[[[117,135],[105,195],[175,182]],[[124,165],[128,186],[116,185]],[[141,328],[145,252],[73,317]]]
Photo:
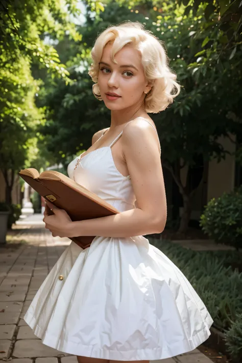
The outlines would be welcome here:
[[[200,226],[216,243],[242,248],[242,187],[211,199]]]

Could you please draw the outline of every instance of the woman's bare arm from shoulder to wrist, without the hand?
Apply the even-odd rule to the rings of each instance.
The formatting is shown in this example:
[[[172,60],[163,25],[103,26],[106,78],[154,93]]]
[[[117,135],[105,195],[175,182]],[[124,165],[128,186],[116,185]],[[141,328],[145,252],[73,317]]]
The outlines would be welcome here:
[[[156,139],[153,127],[140,119],[125,127],[121,139],[138,208],[117,215],[71,222],[68,237],[121,238],[163,231],[166,197]]]

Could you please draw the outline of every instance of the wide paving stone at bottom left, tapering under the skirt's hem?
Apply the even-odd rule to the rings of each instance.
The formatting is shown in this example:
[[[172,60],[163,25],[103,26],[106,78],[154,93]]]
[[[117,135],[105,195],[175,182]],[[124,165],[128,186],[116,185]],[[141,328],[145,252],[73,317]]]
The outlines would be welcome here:
[[[58,354],[68,355],[41,343],[39,339],[23,339],[16,341],[13,356],[17,358],[56,357]]]

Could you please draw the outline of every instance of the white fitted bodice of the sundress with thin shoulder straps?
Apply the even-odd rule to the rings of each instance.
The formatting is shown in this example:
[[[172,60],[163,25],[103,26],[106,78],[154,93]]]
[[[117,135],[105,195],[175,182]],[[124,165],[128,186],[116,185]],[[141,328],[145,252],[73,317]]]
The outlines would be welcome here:
[[[155,129],[153,125],[152,127]],[[130,176],[124,176],[117,170],[112,156],[111,147],[122,134],[123,131],[111,145],[92,150],[83,157],[77,157],[67,167],[68,176],[71,179],[110,203],[120,212],[134,209],[136,199]]]

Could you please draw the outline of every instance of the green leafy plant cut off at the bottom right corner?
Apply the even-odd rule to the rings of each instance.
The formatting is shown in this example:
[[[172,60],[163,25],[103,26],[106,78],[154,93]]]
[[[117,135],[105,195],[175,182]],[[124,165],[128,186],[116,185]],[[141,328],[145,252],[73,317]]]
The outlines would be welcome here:
[[[239,363],[242,360],[242,313],[236,315],[231,328],[225,333],[226,346],[230,356]]]

